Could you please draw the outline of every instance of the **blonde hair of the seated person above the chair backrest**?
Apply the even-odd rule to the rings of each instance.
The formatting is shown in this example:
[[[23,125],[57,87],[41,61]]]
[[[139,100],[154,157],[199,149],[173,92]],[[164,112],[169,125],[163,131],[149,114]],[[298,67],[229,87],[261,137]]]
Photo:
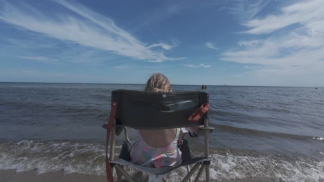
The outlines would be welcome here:
[[[172,92],[171,83],[164,74],[152,74],[145,85],[145,92]]]

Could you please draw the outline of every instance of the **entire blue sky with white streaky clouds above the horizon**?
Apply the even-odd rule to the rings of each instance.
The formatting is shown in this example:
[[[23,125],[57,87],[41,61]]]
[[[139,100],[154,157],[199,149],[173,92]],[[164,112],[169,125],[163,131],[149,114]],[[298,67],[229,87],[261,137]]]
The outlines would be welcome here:
[[[0,0],[0,81],[323,86],[323,7]]]

